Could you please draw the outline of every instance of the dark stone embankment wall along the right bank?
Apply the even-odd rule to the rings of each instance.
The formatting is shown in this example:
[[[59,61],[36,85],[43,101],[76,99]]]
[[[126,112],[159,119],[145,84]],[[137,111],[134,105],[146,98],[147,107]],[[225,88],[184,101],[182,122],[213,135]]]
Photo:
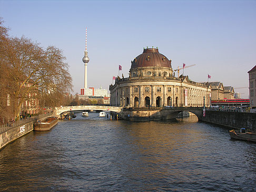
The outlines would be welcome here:
[[[231,128],[250,128],[256,130],[256,113],[240,113],[240,112],[219,112],[206,110],[203,122],[228,126]]]

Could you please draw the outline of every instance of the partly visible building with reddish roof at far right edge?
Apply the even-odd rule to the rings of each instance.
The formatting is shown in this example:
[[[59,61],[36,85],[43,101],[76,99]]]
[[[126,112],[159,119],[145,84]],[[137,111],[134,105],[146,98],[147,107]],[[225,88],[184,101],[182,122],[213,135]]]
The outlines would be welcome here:
[[[250,106],[256,106],[256,65],[249,70]]]

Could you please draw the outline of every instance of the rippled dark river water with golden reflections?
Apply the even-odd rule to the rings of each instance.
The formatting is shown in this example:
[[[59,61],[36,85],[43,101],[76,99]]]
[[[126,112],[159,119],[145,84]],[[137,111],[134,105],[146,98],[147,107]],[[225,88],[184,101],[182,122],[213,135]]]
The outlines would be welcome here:
[[[255,191],[256,144],[197,122],[81,113],[0,151],[6,191]]]

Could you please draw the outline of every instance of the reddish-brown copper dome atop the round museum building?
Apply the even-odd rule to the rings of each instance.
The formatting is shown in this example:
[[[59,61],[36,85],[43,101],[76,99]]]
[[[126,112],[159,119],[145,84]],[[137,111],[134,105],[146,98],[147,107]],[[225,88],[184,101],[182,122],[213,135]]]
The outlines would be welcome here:
[[[163,54],[159,53],[158,48],[146,48],[143,53],[132,61],[132,68],[137,67],[172,67],[171,61]]]

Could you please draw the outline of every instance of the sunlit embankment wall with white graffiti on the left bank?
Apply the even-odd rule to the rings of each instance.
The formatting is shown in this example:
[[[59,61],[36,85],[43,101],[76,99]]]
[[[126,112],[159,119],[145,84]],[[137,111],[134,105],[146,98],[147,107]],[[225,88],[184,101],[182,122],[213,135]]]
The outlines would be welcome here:
[[[7,144],[13,142],[15,139],[32,132],[32,130],[34,130],[34,121],[1,130],[0,150]]]

